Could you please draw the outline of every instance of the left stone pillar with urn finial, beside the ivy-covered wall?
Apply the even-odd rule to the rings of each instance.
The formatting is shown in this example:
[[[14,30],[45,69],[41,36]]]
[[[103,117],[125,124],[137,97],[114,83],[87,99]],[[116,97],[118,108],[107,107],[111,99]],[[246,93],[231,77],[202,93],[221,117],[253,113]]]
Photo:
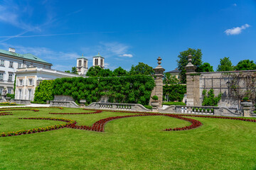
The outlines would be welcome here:
[[[158,66],[154,68],[155,74],[155,83],[156,86],[154,87],[153,91],[151,92],[152,96],[158,96],[159,100],[159,107],[161,107],[161,104],[163,103],[163,77],[164,77],[164,71],[165,69],[161,67],[161,57],[158,57]],[[150,103],[152,101],[152,98],[150,98]]]

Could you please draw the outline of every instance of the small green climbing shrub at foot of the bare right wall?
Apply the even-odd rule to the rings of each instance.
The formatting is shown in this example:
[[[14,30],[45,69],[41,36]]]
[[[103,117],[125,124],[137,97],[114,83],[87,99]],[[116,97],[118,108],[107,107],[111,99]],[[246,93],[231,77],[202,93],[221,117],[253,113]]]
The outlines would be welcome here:
[[[203,90],[203,103],[202,106],[218,106],[218,102],[221,99],[222,94],[218,94],[218,96],[214,96],[214,90],[210,89],[206,95],[206,90]]]

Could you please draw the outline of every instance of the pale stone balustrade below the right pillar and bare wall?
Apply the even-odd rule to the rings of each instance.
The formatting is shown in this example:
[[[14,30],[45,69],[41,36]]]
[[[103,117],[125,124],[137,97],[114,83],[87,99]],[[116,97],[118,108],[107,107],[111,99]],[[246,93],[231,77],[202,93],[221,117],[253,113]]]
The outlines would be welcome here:
[[[161,110],[160,113],[186,113],[186,114],[200,114],[200,115],[225,115],[225,116],[242,116],[241,113],[229,108],[215,107],[215,106],[169,106]]]

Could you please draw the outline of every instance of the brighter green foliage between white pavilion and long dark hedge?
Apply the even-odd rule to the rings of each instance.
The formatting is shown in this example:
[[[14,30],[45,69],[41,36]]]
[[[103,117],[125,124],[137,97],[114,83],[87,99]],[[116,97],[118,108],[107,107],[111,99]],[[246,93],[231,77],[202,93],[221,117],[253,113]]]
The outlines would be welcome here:
[[[54,80],[43,80],[39,86],[36,87],[34,101],[53,101],[53,82]]]

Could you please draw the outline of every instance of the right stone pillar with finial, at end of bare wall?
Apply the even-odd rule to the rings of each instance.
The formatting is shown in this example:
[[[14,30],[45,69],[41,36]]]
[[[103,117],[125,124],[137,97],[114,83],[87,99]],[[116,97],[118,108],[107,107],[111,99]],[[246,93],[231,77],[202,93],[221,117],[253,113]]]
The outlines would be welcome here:
[[[188,55],[188,64],[186,65],[186,94],[187,94],[187,106],[199,106],[200,105],[200,88],[199,88],[199,76],[196,72],[196,66],[192,63],[192,55]]]

